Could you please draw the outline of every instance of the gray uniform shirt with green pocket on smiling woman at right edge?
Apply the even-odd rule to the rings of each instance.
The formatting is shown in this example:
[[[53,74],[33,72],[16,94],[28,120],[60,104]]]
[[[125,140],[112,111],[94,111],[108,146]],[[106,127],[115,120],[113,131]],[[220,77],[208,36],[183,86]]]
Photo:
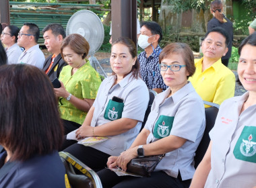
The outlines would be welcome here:
[[[227,99],[220,106],[212,140],[212,169],[205,187],[256,186],[256,105],[245,109],[249,93]]]

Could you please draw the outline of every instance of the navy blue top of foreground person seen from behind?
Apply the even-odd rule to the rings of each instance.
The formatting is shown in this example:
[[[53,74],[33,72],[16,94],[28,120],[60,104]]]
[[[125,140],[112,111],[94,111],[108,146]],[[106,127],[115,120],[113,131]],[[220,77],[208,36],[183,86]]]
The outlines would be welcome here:
[[[59,153],[34,156],[24,162],[14,161],[7,173],[3,173],[10,162],[3,165],[6,152],[0,154],[0,187],[64,188],[65,167]],[[2,167],[1,167],[2,165]]]

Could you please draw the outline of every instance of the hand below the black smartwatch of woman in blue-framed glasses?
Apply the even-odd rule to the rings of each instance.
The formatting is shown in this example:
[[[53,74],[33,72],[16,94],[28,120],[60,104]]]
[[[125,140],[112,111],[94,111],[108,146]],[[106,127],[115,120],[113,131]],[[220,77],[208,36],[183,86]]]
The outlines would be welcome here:
[[[127,163],[131,161],[131,159],[137,157],[137,146],[134,148],[129,148],[125,152],[121,152],[121,155],[117,158],[117,165],[123,171],[127,170]]]

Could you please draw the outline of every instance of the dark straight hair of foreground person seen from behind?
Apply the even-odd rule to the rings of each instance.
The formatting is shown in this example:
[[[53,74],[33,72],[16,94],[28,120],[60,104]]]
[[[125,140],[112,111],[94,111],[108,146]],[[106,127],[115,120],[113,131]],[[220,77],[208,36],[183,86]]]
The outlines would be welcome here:
[[[11,152],[11,160],[61,147],[63,126],[45,73],[28,64],[0,66],[0,96],[0,144]]]

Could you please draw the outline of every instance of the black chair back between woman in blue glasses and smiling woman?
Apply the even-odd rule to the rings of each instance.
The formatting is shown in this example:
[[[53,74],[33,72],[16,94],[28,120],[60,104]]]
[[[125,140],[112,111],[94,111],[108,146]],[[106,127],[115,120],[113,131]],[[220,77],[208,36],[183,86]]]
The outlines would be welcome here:
[[[219,107],[220,107],[220,105],[218,105],[216,103],[211,103],[208,101],[203,101],[203,103],[206,105],[211,105],[212,107],[205,108],[205,120],[206,120],[205,131],[203,133],[203,138],[202,138],[197,150],[195,151],[195,157],[194,157],[195,169],[197,168],[198,164],[203,159],[203,156],[210,144],[211,139],[209,136],[209,132],[214,127],[215,120],[216,120],[216,117],[217,117],[217,114],[219,111]]]

